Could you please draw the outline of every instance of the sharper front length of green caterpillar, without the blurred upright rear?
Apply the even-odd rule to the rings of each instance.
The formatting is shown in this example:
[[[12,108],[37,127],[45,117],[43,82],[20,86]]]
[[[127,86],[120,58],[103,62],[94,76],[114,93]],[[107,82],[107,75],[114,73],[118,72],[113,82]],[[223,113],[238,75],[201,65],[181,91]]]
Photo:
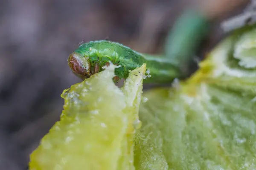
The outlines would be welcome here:
[[[117,42],[106,40],[90,41],[80,45],[70,54],[68,62],[73,73],[81,79],[87,79],[102,71],[103,66],[109,65],[110,62],[119,65],[119,68],[115,68],[115,82],[122,78],[126,79],[129,70],[134,70],[144,63],[151,75],[144,80],[145,83],[166,83],[182,77],[179,68],[166,57],[140,54]]]

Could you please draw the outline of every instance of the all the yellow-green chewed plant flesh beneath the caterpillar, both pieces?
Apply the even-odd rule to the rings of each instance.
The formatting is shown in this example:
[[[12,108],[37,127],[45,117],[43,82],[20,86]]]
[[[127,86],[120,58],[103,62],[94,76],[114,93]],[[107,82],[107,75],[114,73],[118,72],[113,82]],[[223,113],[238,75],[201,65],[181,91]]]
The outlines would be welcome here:
[[[73,85],[31,169],[255,169],[255,58],[254,27],[221,42],[185,82],[143,93],[141,105],[145,65],[121,90],[111,69]]]

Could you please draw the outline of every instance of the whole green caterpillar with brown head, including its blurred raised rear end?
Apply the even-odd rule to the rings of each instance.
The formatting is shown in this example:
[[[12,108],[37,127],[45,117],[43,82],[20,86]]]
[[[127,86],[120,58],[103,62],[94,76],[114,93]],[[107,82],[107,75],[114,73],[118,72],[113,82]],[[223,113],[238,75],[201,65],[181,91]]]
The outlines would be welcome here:
[[[117,42],[90,41],[79,46],[69,57],[73,73],[82,79],[103,70],[112,62],[119,65],[115,69],[114,81],[127,78],[129,70],[144,63],[150,76],[144,83],[167,83],[175,78],[184,78],[201,40],[207,35],[209,22],[198,11],[186,11],[167,36],[165,56],[141,54]],[[150,78],[149,78],[150,77]]]

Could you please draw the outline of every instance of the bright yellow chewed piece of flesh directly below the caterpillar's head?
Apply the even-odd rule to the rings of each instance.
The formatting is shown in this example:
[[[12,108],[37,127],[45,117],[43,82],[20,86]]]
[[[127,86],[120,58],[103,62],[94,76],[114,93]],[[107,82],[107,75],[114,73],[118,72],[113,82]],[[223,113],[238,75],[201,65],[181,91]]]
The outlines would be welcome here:
[[[137,76],[134,76],[136,74]],[[64,110],[31,154],[31,170],[134,170],[133,138],[145,65],[125,86],[114,83],[114,66],[64,91]]]

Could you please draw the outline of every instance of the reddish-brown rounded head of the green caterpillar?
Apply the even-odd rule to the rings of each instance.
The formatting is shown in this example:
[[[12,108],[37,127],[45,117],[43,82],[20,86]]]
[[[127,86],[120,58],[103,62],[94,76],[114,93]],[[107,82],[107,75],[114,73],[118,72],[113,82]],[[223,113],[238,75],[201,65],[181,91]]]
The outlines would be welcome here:
[[[73,73],[81,79],[87,79],[93,74],[90,69],[90,61],[88,57],[84,57],[77,52],[70,54],[68,65]]]

